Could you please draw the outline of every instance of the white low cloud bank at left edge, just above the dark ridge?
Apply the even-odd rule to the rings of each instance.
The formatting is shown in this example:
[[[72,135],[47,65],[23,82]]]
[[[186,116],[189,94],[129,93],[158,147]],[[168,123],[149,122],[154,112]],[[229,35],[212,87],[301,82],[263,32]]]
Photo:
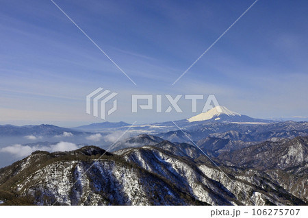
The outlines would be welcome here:
[[[29,156],[32,152],[38,150],[46,152],[66,152],[75,149],[79,149],[78,145],[61,141],[60,143],[57,143],[55,145],[10,145],[8,147],[1,148],[0,153],[11,154],[16,158],[23,158],[25,156]]]

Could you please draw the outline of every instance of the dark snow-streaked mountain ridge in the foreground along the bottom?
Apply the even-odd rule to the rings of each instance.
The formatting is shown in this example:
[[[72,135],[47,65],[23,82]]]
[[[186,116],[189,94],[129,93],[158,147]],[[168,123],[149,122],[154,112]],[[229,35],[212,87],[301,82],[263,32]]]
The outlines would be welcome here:
[[[285,146],[307,147],[307,140],[296,138]],[[267,152],[279,149],[275,145]],[[34,152],[0,169],[0,200],[9,205],[306,205],[307,152],[302,154],[296,162],[282,157],[277,162],[284,162],[283,169],[266,171],[216,159],[221,171],[193,145],[168,141],[114,154],[93,146]]]

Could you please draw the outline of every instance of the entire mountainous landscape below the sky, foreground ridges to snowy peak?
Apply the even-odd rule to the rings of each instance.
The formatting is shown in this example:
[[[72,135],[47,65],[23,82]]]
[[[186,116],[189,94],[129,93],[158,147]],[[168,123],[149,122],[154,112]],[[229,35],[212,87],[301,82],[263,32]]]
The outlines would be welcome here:
[[[2,162],[33,152],[0,169],[0,204],[308,205],[308,122],[216,107],[118,141],[130,126],[0,125]]]

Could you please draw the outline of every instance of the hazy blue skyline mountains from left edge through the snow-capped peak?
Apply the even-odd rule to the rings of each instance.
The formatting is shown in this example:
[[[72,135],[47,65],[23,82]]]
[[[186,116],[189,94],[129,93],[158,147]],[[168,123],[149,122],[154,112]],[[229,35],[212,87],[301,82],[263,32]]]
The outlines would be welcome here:
[[[265,124],[277,123],[278,121],[255,119],[246,115],[232,112],[223,106],[217,106],[205,113],[198,114],[189,119],[175,121],[181,128],[192,128],[194,126],[207,125],[210,123],[239,123],[239,124]],[[90,125],[82,125],[76,128],[61,128],[55,125],[0,125],[0,136],[53,136],[63,134],[63,132],[71,132],[72,134],[82,134],[82,132],[108,132],[110,130],[126,130],[131,124],[125,122],[103,122],[92,123]],[[149,123],[142,125],[133,125],[131,130],[149,131],[153,133],[161,133],[170,130],[177,130],[172,121],[162,123]]]

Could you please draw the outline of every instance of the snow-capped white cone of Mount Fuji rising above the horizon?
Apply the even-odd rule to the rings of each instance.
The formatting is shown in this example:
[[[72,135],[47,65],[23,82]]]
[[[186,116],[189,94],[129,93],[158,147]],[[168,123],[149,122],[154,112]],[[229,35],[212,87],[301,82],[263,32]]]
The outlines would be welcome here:
[[[186,119],[189,123],[199,122],[199,121],[209,121],[209,122],[240,122],[240,123],[269,123],[272,121],[264,119],[255,119],[248,117],[238,112],[233,112],[224,106],[216,106],[207,112],[203,112],[194,117]]]

